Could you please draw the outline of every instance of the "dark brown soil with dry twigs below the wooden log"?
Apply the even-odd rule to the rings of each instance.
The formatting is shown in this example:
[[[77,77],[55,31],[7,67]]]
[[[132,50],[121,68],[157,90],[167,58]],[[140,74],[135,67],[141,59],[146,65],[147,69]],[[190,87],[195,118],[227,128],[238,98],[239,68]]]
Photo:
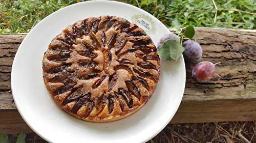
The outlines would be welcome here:
[[[241,132],[241,133],[240,133]],[[240,135],[239,135],[240,133]],[[256,121],[252,122],[221,122],[221,123],[193,123],[169,124],[156,135],[149,143],[170,142],[205,142],[205,143],[248,143],[256,142]],[[9,134],[9,142],[15,143],[17,134]],[[35,133],[26,134],[26,143],[45,143]]]

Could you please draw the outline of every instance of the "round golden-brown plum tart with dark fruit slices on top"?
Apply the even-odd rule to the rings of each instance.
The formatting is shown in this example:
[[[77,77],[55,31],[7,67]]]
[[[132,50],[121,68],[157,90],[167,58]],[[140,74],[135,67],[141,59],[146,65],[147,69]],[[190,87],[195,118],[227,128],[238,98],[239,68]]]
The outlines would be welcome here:
[[[116,121],[139,110],[154,93],[160,74],[156,52],[150,36],[126,19],[80,20],[49,44],[42,60],[46,88],[79,119]]]

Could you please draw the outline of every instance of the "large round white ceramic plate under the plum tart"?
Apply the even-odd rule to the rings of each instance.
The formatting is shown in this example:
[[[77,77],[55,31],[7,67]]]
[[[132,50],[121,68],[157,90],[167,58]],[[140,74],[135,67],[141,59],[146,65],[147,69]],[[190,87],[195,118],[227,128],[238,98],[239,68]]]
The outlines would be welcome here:
[[[151,14],[113,1],[90,1],[62,8],[41,20],[20,44],[12,66],[12,93],[20,115],[49,142],[146,142],[173,118],[185,87],[183,57],[161,61],[157,89],[144,107],[111,123],[89,123],[60,109],[49,96],[42,79],[42,57],[50,41],[66,26],[93,16],[125,18],[143,28],[157,44],[169,33]]]

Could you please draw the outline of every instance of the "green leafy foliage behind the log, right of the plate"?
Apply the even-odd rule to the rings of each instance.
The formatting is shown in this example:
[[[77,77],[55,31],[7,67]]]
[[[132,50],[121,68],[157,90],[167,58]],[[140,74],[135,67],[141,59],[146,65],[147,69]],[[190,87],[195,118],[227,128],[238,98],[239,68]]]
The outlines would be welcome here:
[[[133,2],[136,5],[134,1],[126,2]],[[184,27],[184,25],[244,29],[256,28],[254,24],[256,23],[256,1],[254,0],[216,1],[216,5],[219,8],[216,22],[227,22],[226,24],[214,23],[216,10],[212,0],[142,0],[137,5],[156,16],[165,25],[175,28],[174,30],[176,31],[177,28]],[[240,10],[240,12],[234,11],[234,9]],[[244,22],[245,24],[231,24],[231,22]]]

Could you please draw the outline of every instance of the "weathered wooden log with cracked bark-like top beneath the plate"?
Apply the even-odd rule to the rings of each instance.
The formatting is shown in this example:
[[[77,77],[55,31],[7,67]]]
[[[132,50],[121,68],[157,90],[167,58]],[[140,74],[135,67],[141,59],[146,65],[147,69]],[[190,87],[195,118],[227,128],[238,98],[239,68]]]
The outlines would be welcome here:
[[[10,74],[13,58],[26,34],[0,35],[0,130],[30,132],[13,103]],[[186,63],[186,88],[172,123],[256,120],[256,32],[221,28],[196,28],[202,45],[200,61],[221,62],[214,78],[199,83],[191,79]],[[170,105],[171,106],[171,105]]]

